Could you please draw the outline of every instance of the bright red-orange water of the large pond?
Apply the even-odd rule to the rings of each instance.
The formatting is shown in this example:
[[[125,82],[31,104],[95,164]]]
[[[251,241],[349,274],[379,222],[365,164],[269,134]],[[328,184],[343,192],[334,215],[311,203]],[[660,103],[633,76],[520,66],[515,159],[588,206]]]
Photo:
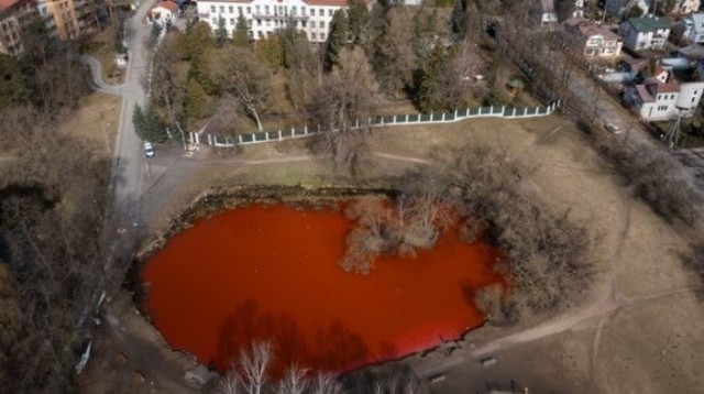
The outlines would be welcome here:
[[[352,223],[332,210],[250,206],[199,220],[146,264],[145,308],[170,344],[221,371],[252,340],[284,365],[348,371],[437,346],[482,324],[472,291],[501,282],[494,252],[457,231],[366,276],[337,262]]]

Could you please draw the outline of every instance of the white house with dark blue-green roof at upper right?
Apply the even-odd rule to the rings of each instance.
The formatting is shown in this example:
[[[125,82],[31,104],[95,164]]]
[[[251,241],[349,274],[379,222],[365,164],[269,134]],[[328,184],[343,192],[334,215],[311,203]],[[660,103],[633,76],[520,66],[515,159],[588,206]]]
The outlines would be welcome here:
[[[670,36],[671,24],[668,18],[631,18],[619,24],[618,34],[632,51],[661,50]]]

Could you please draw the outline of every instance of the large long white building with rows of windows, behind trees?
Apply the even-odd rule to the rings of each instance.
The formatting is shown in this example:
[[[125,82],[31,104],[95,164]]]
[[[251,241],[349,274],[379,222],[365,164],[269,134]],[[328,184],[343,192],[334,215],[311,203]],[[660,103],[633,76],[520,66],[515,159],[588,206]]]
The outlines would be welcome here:
[[[293,22],[310,42],[321,43],[328,39],[332,14],[345,7],[346,0],[201,0],[198,17],[213,31],[223,19],[232,36],[238,17],[243,15],[254,40],[264,39]]]

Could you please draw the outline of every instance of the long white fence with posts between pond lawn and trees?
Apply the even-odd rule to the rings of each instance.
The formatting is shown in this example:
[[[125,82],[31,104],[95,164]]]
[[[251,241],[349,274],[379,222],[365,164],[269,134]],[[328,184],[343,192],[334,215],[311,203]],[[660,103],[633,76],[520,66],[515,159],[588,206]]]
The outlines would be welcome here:
[[[522,118],[537,118],[547,117],[552,114],[557,108],[560,107],[560,101],[556,101],[547,107],[506,107],[506,106],[491,106],[480,108],[466,108],[463,110],[455,110],[454,112],[440,112],[440,113],[413,113],[413,114],[389,114],[378,116],[375,118],[369,118],[367,123],[371,127],[392,127],[392,125],[409,125],[409,124],[430,124],[430,123],[449,123],[459,122],[466,119],[474,118],[506,118],[506,119],[522,119]],[[360,127],[360,121],[352,129]],[[262,131],[249,134],[240,134],[237,140],[232,140],[227,136],[218,136],[208,133],[190,132],[190,143],[193,144],[208,144],[211,146],[234,146],[250,145],[266,142],[284,141],[289,139],[297,139],[304,136],[310,136],[318,134],[322,131],[318,124],[315,128],[304,125],[302,128],[282,129],[277,131]],[[333,130],[334,131],[334,130]]]

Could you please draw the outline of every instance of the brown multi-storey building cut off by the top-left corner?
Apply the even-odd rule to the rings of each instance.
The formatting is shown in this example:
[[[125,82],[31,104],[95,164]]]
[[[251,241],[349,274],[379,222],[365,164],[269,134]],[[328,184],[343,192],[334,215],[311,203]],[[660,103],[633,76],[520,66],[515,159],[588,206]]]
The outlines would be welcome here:
[[[21,31],[33,12],[31,0],[0,0],[0,54],[15,56],[24,51]]]

